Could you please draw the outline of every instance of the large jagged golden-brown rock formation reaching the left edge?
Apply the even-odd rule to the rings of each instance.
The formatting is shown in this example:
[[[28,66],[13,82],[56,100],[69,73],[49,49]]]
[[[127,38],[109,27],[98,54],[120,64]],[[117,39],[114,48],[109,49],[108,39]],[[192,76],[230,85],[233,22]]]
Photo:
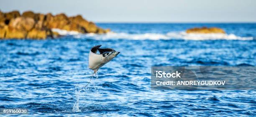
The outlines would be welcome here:
[[[3,13],[0,11],[0,39],[46,39],[59,34],[52,29],[62,29],[79,33],[107,33],[109,29],[97,27],[81,15],[67,17],[64,13],[52,15],[18,11]]]

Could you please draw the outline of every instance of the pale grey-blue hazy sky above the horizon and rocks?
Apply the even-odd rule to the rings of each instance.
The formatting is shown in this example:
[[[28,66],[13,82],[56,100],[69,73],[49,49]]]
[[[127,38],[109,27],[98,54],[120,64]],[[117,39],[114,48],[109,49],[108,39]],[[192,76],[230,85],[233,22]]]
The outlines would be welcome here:
[[[256,22],[256,0],[1,0],[0,10],[79,14],[93,22]]]

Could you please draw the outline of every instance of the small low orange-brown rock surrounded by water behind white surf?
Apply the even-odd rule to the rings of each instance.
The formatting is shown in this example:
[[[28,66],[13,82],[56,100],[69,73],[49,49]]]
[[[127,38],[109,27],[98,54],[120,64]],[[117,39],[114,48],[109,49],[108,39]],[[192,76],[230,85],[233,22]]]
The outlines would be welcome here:
[[[217,27],[202,27],[202,28],[192,28],[187,29],[187,33],[200,33],[200,34],[208,34],[208,33],[223,33],[225,34],[225,31],[223,29],[217,28]]]

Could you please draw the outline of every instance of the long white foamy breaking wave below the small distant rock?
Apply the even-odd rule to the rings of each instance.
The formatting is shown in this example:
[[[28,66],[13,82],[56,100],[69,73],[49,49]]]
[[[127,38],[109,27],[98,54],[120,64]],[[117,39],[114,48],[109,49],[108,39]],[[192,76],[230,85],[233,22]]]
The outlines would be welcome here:
[[[171,40],[171,39],[185,39],[185,40],[253,40],[253,37],[239,37],[235,34],[192,34],[186,32],[168,32],[166,34],[160,33],[143,33],[143,34],[128,34],[109,32],[107,34],[77,34],[74,38],[91,38],[96,40],[110,40],[110,39],[131,39],[131,40]]]

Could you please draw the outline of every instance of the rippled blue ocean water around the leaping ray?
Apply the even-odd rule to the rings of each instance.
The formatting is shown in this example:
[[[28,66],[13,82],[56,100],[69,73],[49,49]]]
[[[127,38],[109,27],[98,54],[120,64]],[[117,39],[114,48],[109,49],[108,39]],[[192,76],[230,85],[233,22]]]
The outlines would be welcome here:
[[[151,66],[256,66],[256,24],[97,25],[113,32],[0,40],[0,108],[27,108],[24,117],[256,116],[255,90],[151,90]],[[202,26],[227,34],[185,33]],[[92,76],[95,45],[121,53]]]

